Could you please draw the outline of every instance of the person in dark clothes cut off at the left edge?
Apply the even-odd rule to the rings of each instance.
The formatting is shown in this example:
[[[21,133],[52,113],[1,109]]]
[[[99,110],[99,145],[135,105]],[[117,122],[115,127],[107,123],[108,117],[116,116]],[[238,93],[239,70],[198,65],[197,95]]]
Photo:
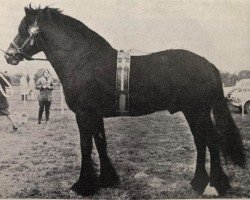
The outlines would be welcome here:
[[[0,72],[1,73],[1,72]],[[13,131],[17,130],[17,126],[14,123],[14,121],[12,120],[11,116],[10,116],[10,112],[9,112],[9,103],[7,101],[7,98],[5,97],[5,95],[3,94],[6,93],[6,88],[8,87],[8,83],[4,80],[4,78],[9,82],[10,84],[10,78],[7,76],[7,72],[5,72],[5,74],[0,75],[0,87],[1,87],[1,92],[0,92],[0,116],[6,116],[7,119],[11,122],[12,127],[13,127]]]

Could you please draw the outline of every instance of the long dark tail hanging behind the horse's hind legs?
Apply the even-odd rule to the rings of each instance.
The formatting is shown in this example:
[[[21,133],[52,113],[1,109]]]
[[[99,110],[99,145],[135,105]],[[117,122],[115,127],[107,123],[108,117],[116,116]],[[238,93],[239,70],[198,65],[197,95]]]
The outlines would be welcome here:
[[[244,168],[246,166],[246,155],[240,130],[235,124],[227,101],[223,95],[221,79],[219,86],[219,100],[214,104],[212,111],[215,118],[215,126],[221,136],[221,151],[226,160]]]

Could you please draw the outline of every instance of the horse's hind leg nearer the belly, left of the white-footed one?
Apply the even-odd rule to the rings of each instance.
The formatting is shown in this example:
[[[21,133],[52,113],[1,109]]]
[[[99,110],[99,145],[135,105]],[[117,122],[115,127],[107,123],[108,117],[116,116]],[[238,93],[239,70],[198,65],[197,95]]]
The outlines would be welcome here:
[[[203,117],[201,117],[199,111],[195,111],[194,109],[184,111],[183,113],[194,136],[197,149],[196,169],[190,184],[195,191],[197,191],[199,194],[202,194],[209,183],[209,176],[205,169],[206,139],[202,127]]]

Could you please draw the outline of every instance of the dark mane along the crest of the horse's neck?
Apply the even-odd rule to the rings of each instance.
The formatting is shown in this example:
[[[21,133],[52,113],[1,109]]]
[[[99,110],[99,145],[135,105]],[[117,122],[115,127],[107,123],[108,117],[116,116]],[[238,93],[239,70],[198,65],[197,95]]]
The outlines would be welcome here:
[[[46,19],[46,21],[49,21],[50,23],[58,26],[60,25],[66,32],[78,33],[85,39],[87,38],[94,41],[94,43],[99,44],[102,47],[111,47],[111,45],[103,37],[89,29],[79,20],[62,14],[62,11],[58,8],[50,8],[49,6],[46,6],[45,8],[41,8],[40,6],[32,8],[31,5],[26,8],[33,16],[38,16]]]

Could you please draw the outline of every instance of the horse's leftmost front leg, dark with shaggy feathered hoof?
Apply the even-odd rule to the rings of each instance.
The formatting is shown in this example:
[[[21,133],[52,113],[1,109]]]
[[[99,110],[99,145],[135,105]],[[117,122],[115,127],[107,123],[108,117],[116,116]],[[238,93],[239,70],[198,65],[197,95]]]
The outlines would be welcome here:
[[[99,184],[97,175],[92,166],[91,152],[93,148],[92,136],[96,130],[96,117],[89,112],[76,113],[76,121],[80,131],[81,143],[81,172],[79,180],[72,186],[72,190],[79,195],[95,194]]]

